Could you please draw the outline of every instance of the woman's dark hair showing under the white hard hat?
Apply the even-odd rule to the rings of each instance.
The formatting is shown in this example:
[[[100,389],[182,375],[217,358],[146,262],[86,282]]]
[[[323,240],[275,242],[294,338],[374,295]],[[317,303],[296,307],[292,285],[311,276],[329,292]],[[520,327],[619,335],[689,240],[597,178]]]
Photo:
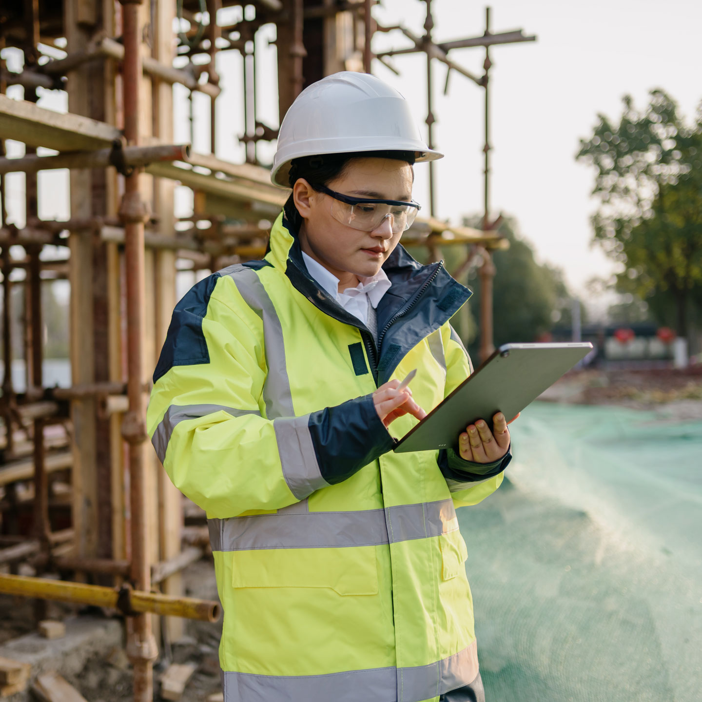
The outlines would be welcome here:
[[[305,178],[312,187],[315,185],[329,185],[332,180],[343,176],[354,159],[395,159],[406,161],[410,166],[414,165],[415,152],[413,151],[358,151],[343,154],[324,154],[322,156],[305,156],[300,159],[293,159],[290,163],[288,183],[290,187],[295,185],[299,178]],[[293,230],[298,232],[303,223],[303,217],[298,212],[293,200],[293,194],[287,199],[283,211]]]

